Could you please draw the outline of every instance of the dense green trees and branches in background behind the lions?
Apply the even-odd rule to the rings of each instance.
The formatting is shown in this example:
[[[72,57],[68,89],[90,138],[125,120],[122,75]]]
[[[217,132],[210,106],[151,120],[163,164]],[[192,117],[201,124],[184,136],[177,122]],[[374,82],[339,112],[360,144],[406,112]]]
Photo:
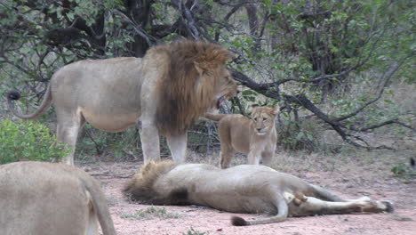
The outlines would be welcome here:
[[[387,0],[3,0],[0,94],[17,89],[22,107],[33,107],[52,73],[70,62],[141,57],[152,45],[204,39],[235,56],[229,68],[245,88],[231,111],[280,104],[284,147],[314,150],[319,124],[356,147],[392,148],[367,144],[360,134],[382,126],[414,134],[412,105],[391,99],[391,85],[416,82],[414,12],[412,1]],[[78,151],[139,154],[135,130],[86,129]],[[215,136],[212,123],[202,122],[189,145],[207,150]]]

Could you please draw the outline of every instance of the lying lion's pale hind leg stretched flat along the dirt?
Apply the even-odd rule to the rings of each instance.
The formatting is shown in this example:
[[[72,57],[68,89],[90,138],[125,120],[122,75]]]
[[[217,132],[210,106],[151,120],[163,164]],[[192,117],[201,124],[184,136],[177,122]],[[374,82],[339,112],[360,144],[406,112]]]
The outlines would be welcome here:
[[[354,212],[392,212],[393,206],[388,201],[377,201],[369,198],[356,199],[353,201],[324,201],[313,197],[295,199],[290,207],[291,215],[331,215],[349,214]]]

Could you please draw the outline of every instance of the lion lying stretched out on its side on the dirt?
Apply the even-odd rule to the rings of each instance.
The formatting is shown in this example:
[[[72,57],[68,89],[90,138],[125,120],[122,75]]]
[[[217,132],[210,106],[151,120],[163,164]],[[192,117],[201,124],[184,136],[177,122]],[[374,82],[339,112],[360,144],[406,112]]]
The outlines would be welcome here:
[[[149,162],[127,182],[124,194],[156,205],[200,205],[235,213],[271,213],[234,225],[282,222],[288,216],[391,212],[388,201],[340,199],[321,187],[268,166],[240,165],[220,169],[205,164]]]

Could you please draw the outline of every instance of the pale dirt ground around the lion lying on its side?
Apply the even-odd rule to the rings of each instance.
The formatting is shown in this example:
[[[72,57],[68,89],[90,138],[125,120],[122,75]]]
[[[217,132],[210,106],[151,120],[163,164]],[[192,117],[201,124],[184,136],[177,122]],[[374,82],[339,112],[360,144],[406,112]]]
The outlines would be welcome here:
[[[377,215],[321,215],[289,218],[283,223],[235,227],[230,224],[231,214],[206,207],[160,207],[127,202],[121,190],[132,174],[141,166],[134,162],[102,162],[78,164],[98,179],[103,187],[117,234],[416,234],[416,180],[396,177],[391,166],[406,162],[412,151],[359,152],[343,156],[278,154],[274,168],[315,184],[319,184],[346,198],[368,196],[390,200],[393,214]],[[347,157],[346,157],[347,156]],[[218,156],[192,157],[190,161],[218,164]],[[240,161],[240,162],[238,162]],[[244,162],[236,158],[234,164]],[[148,208],[158,212],[150,215]],[[141,212],[141,214],[140,214]],[[268,215],[240,215],[253,220]]]

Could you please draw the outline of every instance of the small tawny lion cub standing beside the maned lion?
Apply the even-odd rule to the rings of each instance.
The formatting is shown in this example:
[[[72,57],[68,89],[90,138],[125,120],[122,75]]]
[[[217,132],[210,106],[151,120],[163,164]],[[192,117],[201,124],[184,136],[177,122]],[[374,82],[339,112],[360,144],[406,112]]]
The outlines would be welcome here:
[[[276,114],[279,107],[252,106],[252,118],[240,114],[206,113],[205,118],[218,121],[221,143],[221,168],[227,168],[236,152],[248,155],[248,164],[268,165],[276,150]]]

